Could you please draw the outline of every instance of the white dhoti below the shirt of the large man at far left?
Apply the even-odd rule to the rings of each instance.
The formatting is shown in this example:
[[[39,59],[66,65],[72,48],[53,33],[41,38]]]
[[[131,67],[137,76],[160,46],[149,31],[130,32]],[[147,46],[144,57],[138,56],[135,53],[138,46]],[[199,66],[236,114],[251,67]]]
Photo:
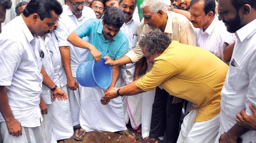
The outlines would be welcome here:
[[[19,137],[9,135],[5,122],[0,123],[1,134],[4,143],[45,143],[43,125],[37,127],[22,127],[22,135]]]

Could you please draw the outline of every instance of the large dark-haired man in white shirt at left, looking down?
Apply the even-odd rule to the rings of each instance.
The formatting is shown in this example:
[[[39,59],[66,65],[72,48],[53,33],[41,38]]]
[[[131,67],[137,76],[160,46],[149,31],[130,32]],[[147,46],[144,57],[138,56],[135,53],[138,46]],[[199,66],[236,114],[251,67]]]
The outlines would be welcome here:
[[[0,73],[0,124],[6,143],[45,142],[39,108],[44,54],[37,36],[52,31],[61,13],[57,0],[31,0],[23,15],[5,25],[0,34],[0,69],[4,70]],[[51,83],[47,87],[54,88]],[[53,94],[59,100],[67,98],[59,88]]]

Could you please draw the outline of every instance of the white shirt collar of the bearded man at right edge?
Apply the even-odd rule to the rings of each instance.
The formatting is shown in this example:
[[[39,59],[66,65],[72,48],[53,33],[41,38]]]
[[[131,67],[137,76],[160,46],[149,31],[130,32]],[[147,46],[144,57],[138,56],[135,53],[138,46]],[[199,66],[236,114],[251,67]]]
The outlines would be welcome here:
[[[256,25],[256,19],[254,19],[252,22],[248,23],[244,27],[242,27],[239,30],[237,30],[236,31],[237,39],[239,38],[239,40],[241,42],[243,42],[244,39],[246,37],[248,37],[256,29],[255,25]]]

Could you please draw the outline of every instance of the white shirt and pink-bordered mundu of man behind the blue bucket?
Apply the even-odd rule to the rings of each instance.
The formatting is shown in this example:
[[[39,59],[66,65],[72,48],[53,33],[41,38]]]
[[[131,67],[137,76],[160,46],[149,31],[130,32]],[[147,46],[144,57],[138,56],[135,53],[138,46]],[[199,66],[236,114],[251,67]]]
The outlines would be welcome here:
[[[140,24],[140,18],[137,13],[133,14],[131,21],[124,23],[121,27],[122,32],[126,35],[129,41],[129,50],[132,50],[137,43],[137,26]],[[121,86],[127,85],[133,81],[135,70],[135,63],[126,64],[121,66],[122,80]],[[128,124],[129,119],[131,121],[132,128],[138,129],[141,124],[141,107],[142,107],[142,95],[124,96],[122,101],[124,102],[124,122]]]

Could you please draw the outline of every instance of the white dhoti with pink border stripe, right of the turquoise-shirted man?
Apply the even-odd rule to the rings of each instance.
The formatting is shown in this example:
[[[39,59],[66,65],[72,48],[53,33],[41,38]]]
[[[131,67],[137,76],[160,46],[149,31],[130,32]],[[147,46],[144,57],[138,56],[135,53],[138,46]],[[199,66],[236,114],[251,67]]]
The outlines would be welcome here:
[[[122,67],[121,86],[124,86],[133,82],[135,64],[130,65],[130,67],[129,65],[121,66]],[[142,95],[143,93],[133,95],[133,96],[124,96],[122,98],[122,101],[124,102],[125,124],[128,124],[130,119],[133,130],[137,130],[141,124]]]

